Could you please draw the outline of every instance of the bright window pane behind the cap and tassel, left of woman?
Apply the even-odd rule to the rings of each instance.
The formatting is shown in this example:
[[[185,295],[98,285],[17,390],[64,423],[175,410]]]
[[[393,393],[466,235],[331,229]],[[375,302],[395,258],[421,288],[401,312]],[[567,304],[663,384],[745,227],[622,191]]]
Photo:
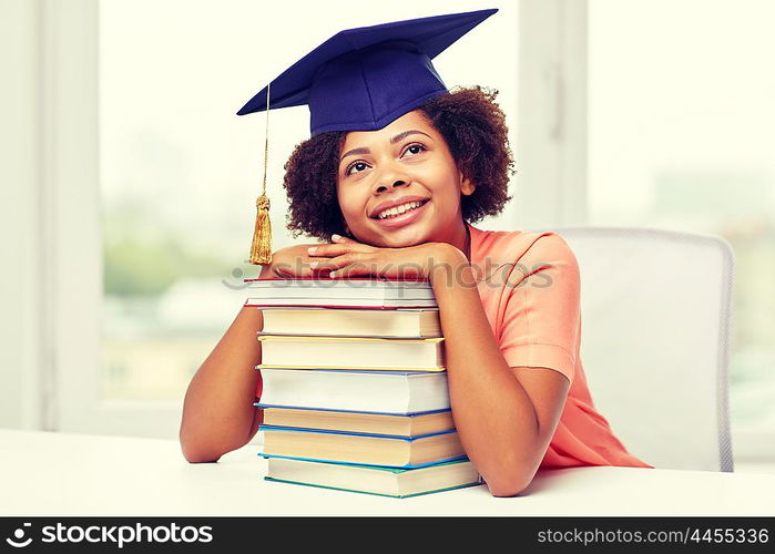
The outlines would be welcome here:
[[[261,193],[264,117],[235,113],[266,80],[340,29],[490,3],[404,0],[368,10],[343,0],[100,3],[105,398],[182,398],[244,301],[235,287],[257,276],[244,260]],[[498,89],[513,114],[517,7],[487,23],[487,32],[467,35],[435,64],[448,86]],[[276,249],[292,242],[283,165],[308,136],[308,111],[273,112],[271,123]]]

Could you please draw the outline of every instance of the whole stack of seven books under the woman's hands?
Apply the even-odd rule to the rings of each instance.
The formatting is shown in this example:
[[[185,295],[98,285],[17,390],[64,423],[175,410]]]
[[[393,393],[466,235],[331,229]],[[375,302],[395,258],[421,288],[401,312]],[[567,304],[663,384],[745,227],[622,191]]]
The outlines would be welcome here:
[[[458,440],[426,280],[248,280],[262,309],[269,481],[387,496],[479,484]]]

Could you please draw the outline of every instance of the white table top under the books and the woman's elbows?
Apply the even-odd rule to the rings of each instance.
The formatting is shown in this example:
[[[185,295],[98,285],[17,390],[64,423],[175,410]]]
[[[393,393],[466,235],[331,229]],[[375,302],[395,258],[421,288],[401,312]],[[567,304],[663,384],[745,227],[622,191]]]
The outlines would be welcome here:
[[[775,515],[775,475],[634,468],[541,471],[388,499],[263,480],[254,445],[190,464],[177,441],[0,430],[0,515]]]

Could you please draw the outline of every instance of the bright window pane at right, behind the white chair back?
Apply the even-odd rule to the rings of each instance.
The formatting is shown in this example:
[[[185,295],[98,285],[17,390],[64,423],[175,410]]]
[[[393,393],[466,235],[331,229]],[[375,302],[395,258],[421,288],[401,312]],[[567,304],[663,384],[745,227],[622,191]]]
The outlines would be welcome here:
[[[732,245],[732,428],[773,433],[775,4],[589,7],[591,223],[708,233]]]

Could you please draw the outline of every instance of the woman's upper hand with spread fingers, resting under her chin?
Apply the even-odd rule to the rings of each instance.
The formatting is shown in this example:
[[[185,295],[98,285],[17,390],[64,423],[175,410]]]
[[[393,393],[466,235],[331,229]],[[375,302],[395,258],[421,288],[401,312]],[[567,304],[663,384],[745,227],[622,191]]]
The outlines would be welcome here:
[[[434,271],[449,264],[450,256],[460,250],[446,243],[425,243],[404,248],[381,248],[334,235],[333,243],[312,246],[314,271],[329,271],[329,277],[374,276],[387,278],[430,279]]]

